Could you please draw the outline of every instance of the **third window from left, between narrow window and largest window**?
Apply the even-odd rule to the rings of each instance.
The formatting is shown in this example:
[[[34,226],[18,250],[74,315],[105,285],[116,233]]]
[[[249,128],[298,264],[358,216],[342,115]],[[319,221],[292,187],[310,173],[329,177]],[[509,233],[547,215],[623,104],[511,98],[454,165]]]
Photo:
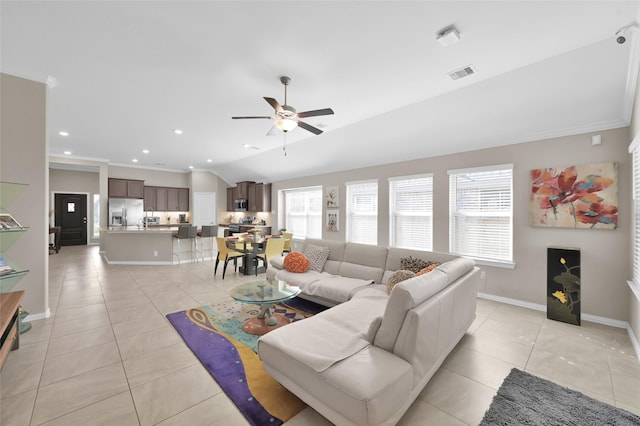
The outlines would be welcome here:
[[[432,174],[389,179],[389,237],[392,247],[432,250]]]

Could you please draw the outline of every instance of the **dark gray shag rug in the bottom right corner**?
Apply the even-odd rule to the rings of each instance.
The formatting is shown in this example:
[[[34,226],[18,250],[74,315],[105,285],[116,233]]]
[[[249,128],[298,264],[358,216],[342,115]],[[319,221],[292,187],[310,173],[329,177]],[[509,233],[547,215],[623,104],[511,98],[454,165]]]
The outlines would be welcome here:
[[[640,417],[514,368],[480,423],[489,425],[638,426]]]

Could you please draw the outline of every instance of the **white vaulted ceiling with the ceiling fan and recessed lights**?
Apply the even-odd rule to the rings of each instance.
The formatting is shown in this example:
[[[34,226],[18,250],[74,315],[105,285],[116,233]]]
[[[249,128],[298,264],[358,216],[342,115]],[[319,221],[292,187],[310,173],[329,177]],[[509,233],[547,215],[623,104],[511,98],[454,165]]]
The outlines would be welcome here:
[[[638,12],[638,1],[3,0],[0,70],[49,83],[52,156],[270,182],[626,126]],[[460,40],[443,47],[450,25]],[[283,75],[298,111],[335,111],[304,120],[323,134],[267,136],[269,120],[231,119],[272,115],[263,97],[284,103]]]

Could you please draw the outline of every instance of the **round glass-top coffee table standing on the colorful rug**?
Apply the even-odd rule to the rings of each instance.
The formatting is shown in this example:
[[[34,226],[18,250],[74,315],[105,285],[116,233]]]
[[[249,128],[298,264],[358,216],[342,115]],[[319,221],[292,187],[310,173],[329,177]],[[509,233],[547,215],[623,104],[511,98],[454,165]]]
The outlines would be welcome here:
[[[262,280],[242,284],[231,289],[231,297],[240,302],[260,306],[254,318],[245,321],[245,333],[262,336],[278,327],[289,324],[289,318],[273,312],[273,305],[286,302],[300,294],[300,288],[286,281]]]

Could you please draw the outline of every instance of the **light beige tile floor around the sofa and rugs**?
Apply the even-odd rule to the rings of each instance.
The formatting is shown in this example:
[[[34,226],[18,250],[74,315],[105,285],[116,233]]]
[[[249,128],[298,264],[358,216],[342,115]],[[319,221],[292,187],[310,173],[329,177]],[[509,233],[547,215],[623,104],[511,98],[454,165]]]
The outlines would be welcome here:
[[[49,256],[52,315],[34,321],[0,372],[0,424],[246,425],[165,314],[229,300],[254,280],[213,262],[107,265],[98,248]],[[477,319],[401,425],[477,425],[503,379],[526,370],[640,414],[640,363],[627,332],[549,321],[478,300]],[[289,425],[329,425],[308,408]]]

